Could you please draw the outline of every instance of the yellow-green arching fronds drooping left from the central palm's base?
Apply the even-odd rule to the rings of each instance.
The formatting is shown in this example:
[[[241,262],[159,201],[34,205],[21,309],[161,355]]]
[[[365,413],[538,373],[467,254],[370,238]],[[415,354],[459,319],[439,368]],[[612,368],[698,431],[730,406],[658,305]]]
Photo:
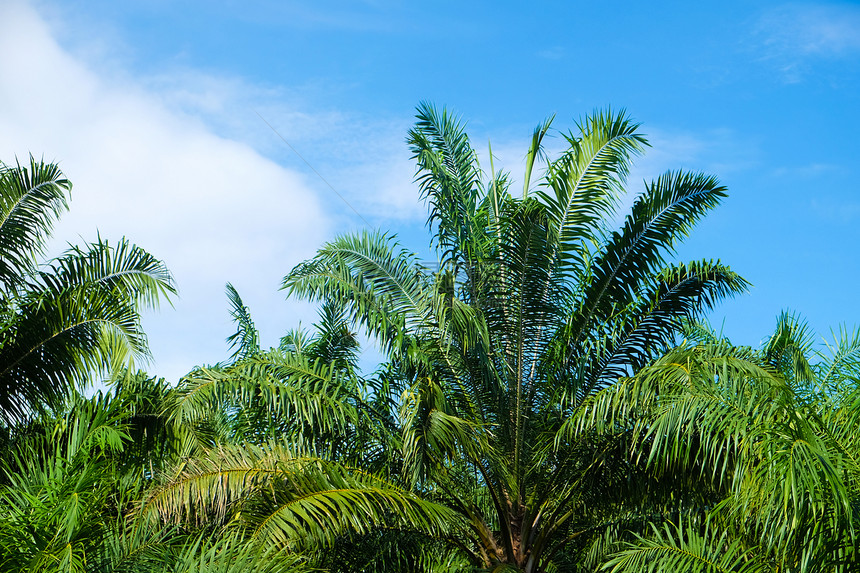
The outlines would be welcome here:
[[[280,446],[221,448],[191,460],[143,505],[163,519],[224,518],[237,509],[253,538],[279,548],[330,546],[341,535],[374,526],[434,536],[464,527],[445,506]]]

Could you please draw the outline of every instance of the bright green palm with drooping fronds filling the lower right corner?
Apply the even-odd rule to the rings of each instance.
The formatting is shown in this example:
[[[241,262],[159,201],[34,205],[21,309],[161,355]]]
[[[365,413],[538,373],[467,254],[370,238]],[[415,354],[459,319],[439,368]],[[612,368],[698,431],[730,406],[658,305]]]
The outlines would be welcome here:
[[[569,428],[623,432],[655,473],[711,492],[624,545],[613,573],[855,570],[858,383],[860,331],[819,349],[784,313],[756,351],[684,345],[590,399]]]

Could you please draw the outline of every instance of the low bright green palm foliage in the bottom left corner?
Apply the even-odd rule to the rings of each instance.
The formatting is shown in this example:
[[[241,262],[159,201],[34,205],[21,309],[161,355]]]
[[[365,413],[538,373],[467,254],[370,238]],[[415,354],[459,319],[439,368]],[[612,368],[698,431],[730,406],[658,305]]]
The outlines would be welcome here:
[[[61,413],[13,428],[0,456],[0,571],[306,570],[298,557],[135,511],[159,466],[152,458],[175,456],[169,440],[153,443],[171,430],[151,419],[170,393],[163,382],[126,373],[107,395],[73,394]]]

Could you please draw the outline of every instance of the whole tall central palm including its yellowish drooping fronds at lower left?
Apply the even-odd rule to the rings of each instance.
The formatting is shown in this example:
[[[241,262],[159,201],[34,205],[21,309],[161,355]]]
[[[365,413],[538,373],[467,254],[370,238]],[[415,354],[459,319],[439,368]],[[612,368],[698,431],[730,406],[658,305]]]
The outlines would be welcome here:
[[[542,147],[551,120],[538,126],[520,197],[507,175],[484,177],[456,118],[427,104],[417,118],[409,143],[439,270],[392,236],[362,233],[325,245],[284,280],[289,293],[341,309],[389,363],[372,409],[318,370],[283,375],[278,387],[307,388],[316,376],[310,404],[344,397],[332,409],[342,413],[328,426],[341,432],[334,439],[348,443],[369,426],[388,463],[368,472],[361,448],[333,458],[304,442],[232,449],[186,465],[150,506],[175,515],[193,499],[219,499],[204,505],[223,513],[229,500],[253,500],[255,513],[242,510],[255,516],[253,535],[293,548],[382,528],[435,539],[459,556],[452,563],[484,568],[596,559],[652,510],[642,501],[652,484],[623,444],[574,439],[564,422],[670,348],[683,321],[746,288],[719,262],[667,263],[725,189],[666,173],[610,232],[632,157],[647,145],[626,114],[586,117],[554,160]],[[290,415],[313,426],[319,412]]]

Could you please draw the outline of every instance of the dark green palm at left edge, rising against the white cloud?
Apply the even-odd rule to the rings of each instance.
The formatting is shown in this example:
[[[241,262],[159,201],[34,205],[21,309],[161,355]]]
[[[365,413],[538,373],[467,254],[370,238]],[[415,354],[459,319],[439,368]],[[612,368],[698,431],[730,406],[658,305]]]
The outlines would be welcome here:
[[[40,262],[71,183],[53,164],[0,163],[0,419],[57,406],[98,371],[147,356],[139,310],[175,294],[162,262],[101,238]]]

